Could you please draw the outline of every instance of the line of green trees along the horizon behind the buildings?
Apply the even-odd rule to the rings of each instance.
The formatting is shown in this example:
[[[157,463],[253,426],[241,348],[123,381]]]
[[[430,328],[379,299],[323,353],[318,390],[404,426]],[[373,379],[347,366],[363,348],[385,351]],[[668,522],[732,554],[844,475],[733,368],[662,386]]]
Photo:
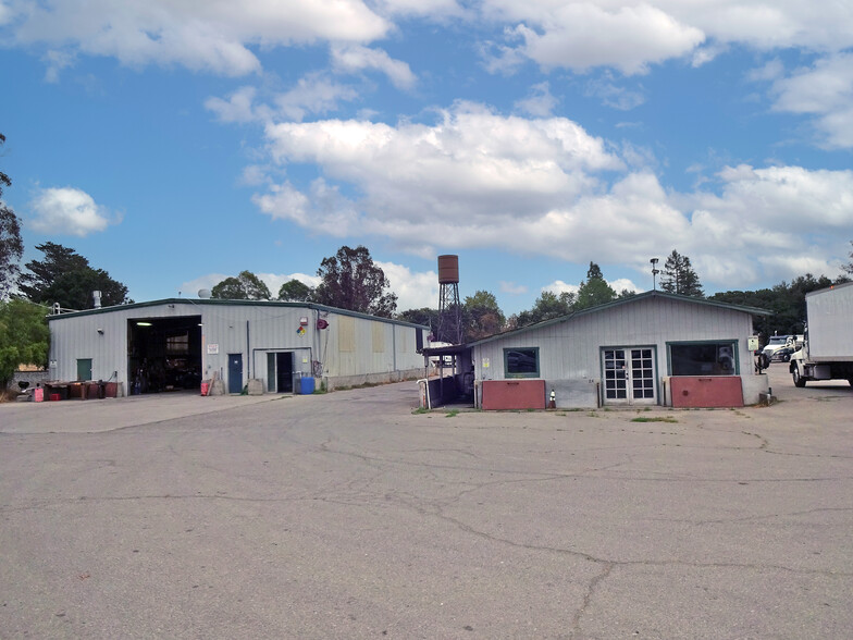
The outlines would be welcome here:
[[[4,143],[5,136],[0,134],[0,146]],[[113,280],[103,269],[92,267],[74,249],[55,243],[36,245],[44,257],[27,262],[26,272],[22,273],[18,267],[24,251],[21,221],[2,199],[3,189],[11,185],[11,179],[0,171],[0,391],[5,389],[18,365],[47,361],[49,331],[46,308],[54,305],[74,310],[91,308],[94,291],[101,292],[103,306],[133,303],[124,284]],[[850,257],[853,259],[853,251]],[[843,269],[853,276],[853,260]],[[397,295],[391,291],[384,271],[364,246],[342,246],[334,256],[321,261],[317,275],[320,283],[316,287],[294,279],[280,287],[275,299],[318,303],[433,329],[440,325],[437,309],[423,307],[397,311]],[[772,311],[772,316],[756,321],[756,331],[765,337],[774,333],[802,333],[805,294],[846,280],[843,275],[833,281],[825,275],[815,278],[806,273],[790,283],[781,282],[756,291],[727,291],[707,299]],[[690,258],[675,249],[660,270],[660,290],[704,297],[702,283]],[[211,290],[211,295],[222,299],[273,299],[263,281],[250,271],[242,271],[219,282]],[[544,291],[530,309],[506,317],[494,294],[477,291],[465,298],[460,309],[452,311],[460,315],[465,339],[472,341],[632,295],[635,295],[634,292],[628,290],[617,293],[604,279],[601,267],[591,261],[577,293]],[[434,337],[441,341],[444,336]]]

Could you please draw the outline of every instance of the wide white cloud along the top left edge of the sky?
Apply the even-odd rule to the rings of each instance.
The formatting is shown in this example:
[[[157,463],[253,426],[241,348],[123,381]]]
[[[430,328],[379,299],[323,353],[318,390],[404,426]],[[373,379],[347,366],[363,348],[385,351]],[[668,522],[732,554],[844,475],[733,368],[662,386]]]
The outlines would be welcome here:
[[[8,42],[233,76],[260,70],[255,46],[363,44],[392,26],[362,0],[12,0],[3,19]]]

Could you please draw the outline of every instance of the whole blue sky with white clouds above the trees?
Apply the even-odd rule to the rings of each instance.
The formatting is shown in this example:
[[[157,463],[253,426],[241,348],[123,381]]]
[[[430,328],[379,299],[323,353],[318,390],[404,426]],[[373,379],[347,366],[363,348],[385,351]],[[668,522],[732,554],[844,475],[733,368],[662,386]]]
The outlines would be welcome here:
[[[853,239],[853,4],[0,0],[0,165],[136,300],[366,245],[399,310],[508,313],[590,261],[647,290],[835,276]]]

